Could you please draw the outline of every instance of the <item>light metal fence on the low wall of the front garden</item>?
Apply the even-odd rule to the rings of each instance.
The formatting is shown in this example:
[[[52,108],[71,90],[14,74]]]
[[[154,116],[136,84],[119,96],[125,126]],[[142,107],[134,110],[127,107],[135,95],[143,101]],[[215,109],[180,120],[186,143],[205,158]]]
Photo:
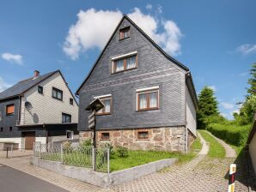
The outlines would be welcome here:
[[[34,143],[34,157],[93,168],[94,171],[109,173],[109,148],[81,146],[79,143]]]

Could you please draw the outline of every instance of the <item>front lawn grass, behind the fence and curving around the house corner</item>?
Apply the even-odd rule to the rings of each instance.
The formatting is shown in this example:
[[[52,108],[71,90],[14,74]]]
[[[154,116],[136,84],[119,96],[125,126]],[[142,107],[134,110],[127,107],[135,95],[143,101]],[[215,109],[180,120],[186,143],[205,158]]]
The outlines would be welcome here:
[[[192,147],[189,150],[189,153],[171,153],[171,152],[162,152],[162,151],[128,151],[129,155],[124,158],[120,158],[116,153],[111,155],[110,159],[110,170],[119,171],[127,168],[131,168],[137,165],[144,165],[153,161],[161,159],[171,159],[177,158],[179,164],[186,163],[187,161],[192,160],[197,153],[201,150],[202,144],[197,138],[193,143]],[[60,161],[60,153],[42,153],[42,159],[46,160],[55,160]],[[65,165],[76,165],[76,166],[85,166],[91,167],[92,161],[91,158],[88,158],[86,154],[82,154],[76,151],[70,153],[64,153],[64,164]],[[98,165],[99,162],[99,165]],[[107,164],[101,164],[101,155],[97,155],[97,170],[98,171],[107,171]]]

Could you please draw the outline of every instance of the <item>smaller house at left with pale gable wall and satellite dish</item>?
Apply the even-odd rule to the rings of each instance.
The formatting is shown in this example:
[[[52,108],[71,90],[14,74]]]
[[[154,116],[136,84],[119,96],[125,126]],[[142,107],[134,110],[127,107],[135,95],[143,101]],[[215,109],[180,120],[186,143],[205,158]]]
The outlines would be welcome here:
[[[20,81],[0,93],[0,142],[78,139],[78,105],[59,70]]]

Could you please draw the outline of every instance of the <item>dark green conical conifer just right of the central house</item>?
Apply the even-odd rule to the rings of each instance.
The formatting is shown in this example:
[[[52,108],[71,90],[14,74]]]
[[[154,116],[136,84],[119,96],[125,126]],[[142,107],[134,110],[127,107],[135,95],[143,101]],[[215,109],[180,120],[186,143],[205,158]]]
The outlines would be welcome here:
[[[197,121],[199,129],[206,128],[210,122],[209,118],[220,117],[217,105],[214,91],[210,87],[204,87],[198,95]]]

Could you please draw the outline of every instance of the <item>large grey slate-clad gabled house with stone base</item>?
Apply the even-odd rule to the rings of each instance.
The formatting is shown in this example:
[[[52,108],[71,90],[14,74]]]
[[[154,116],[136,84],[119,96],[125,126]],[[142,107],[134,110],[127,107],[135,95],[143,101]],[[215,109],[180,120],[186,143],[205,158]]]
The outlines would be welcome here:
[[[189,69],[126,15],[76,95],[81,140],[92,136],[85,108],[95,98],[105,104],[96,116],[97,141],[187,152],[196,137],[198,100]]]

